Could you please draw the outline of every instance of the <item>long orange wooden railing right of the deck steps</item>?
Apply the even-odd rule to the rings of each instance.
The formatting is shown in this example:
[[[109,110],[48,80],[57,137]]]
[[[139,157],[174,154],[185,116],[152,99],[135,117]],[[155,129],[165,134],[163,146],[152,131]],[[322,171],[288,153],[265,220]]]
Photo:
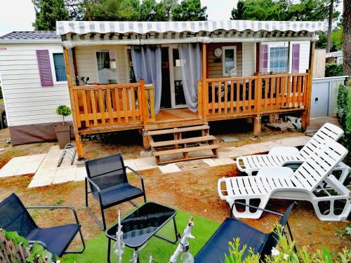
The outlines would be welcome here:
[[[206,79],[198,83],[199,115],[250,115],[302,109],[308,73]],[[202,87],[202,90],[200,88]]]

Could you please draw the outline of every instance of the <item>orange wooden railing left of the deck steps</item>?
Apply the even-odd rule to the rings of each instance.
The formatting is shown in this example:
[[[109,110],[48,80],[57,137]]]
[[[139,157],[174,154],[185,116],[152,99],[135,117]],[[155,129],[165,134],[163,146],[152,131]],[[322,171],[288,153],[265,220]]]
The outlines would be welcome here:
[[[153,87],[140,83],[72,87],[78,128],[154,121]]]

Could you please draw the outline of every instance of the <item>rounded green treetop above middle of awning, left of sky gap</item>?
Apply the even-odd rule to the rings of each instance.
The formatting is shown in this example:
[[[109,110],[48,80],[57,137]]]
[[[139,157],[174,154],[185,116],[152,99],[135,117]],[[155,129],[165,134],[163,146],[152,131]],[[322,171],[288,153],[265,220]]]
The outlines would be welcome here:
[[[201,6],[200,0],[183,0],[173,9],[173,21],[207,20],[207,6]]]

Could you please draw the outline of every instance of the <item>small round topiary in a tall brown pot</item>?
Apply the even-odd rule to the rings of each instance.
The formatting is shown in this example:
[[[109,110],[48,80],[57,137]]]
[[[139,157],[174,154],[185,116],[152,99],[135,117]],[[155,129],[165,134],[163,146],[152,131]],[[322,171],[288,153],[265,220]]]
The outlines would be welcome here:
[[[58,145],[60,149],[64,149],[66,144],[71,142],[71,126],[65,123],[65,116],[71,115],[71,109],[66,105],[60,105],[56,109],[56,113],[62,116],[62,125],[55,126],[56,137],[58,137]]]

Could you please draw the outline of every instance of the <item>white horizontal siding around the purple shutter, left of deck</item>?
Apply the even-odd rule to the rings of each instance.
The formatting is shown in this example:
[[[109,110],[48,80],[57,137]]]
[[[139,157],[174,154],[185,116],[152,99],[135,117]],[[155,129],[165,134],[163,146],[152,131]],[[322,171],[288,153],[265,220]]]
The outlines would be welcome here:
[[[60,43],[0,44],[0,77],[8,126],[62,121],[55,113],[70,105],[67,83],[41,86],[36,50],[62,50]],[[53,59],[52,56],[50,57]],[[54,76],[53,76],[54,78]],[[72,120],[71,116],[67,121]]]

